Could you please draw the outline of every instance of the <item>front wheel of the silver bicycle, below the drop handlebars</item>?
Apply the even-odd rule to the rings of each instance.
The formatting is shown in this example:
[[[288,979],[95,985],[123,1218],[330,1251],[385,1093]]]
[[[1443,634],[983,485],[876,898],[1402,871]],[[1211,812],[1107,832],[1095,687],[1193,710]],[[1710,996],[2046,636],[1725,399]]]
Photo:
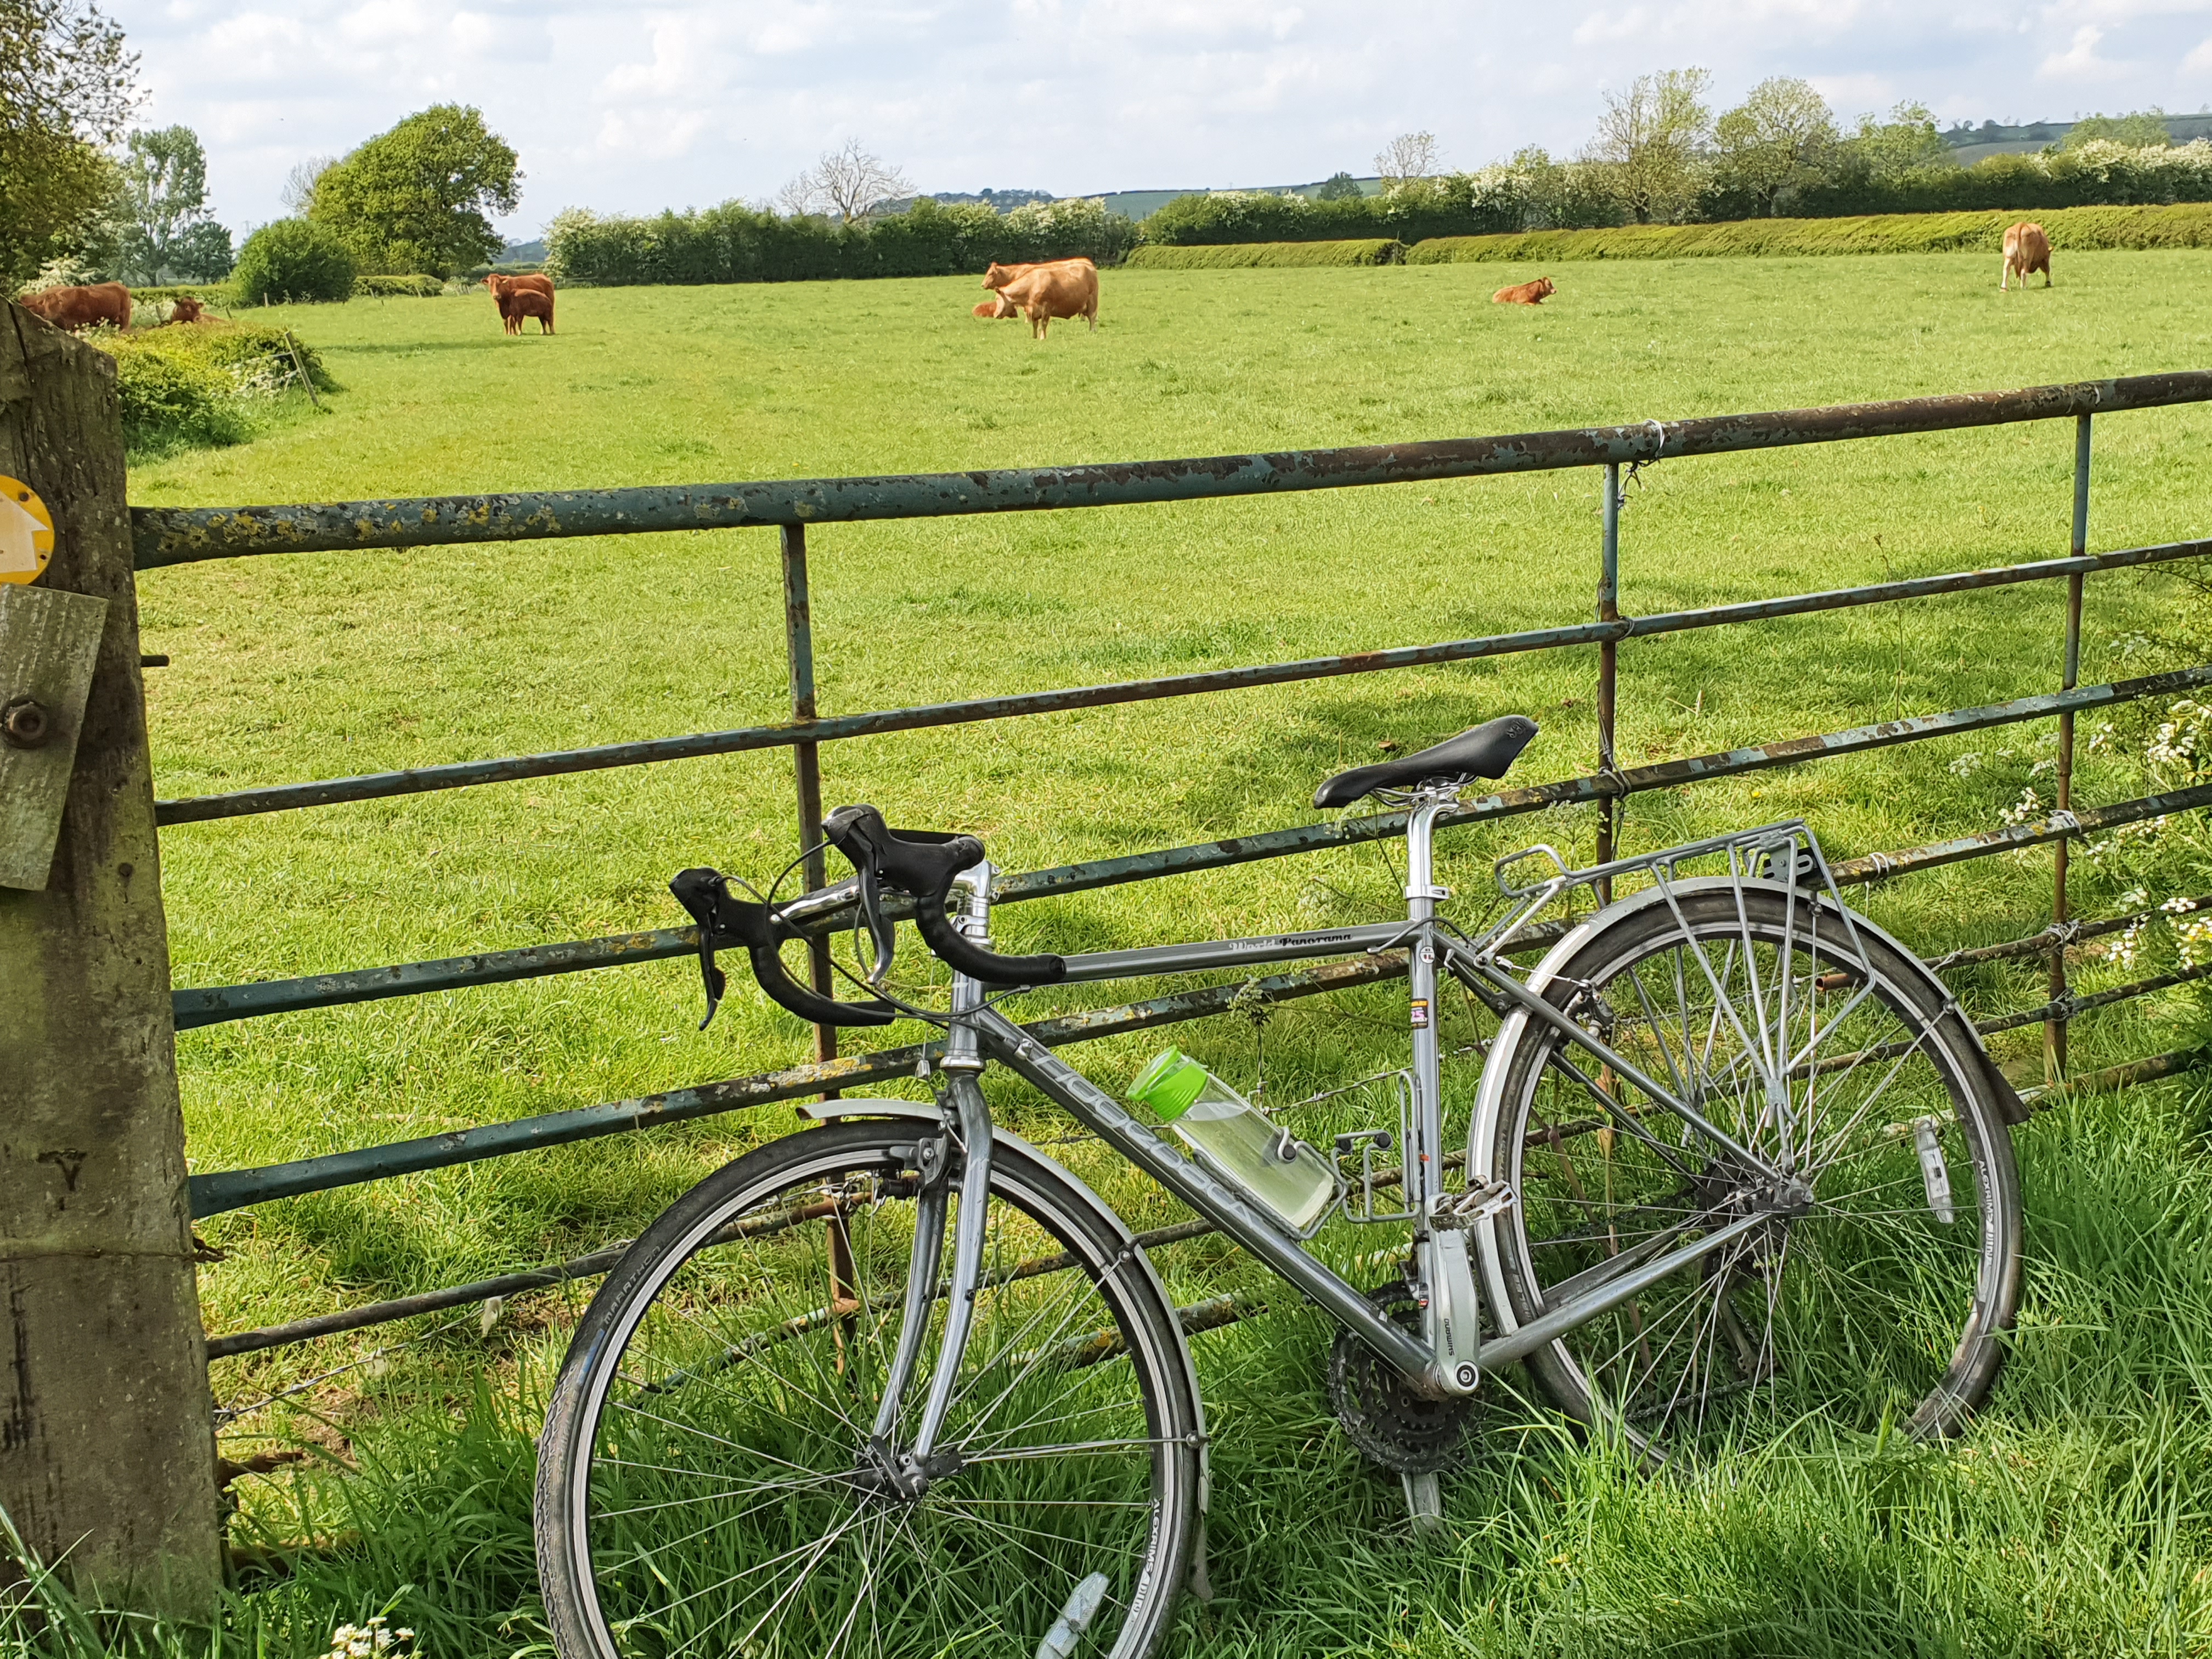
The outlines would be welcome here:
[[[847,1121],[701,1181],[593,1298],[538,1460],[562,1659],[1071,1650],[1141,1659],[1186,1573],[1199,1413],[1144,1256],[1000,1139],[982,1287],[920,1493],[869,1453],[927,1119]],[[947,1232],[951,1221],[947,1223]],[[945,1287],[902,1394],[911,1431]]]

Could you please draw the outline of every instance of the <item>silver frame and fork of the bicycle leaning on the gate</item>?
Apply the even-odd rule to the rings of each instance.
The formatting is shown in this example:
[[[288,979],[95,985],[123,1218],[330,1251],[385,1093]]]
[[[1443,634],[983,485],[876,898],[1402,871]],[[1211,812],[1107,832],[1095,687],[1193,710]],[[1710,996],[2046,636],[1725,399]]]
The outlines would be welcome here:
[[[1416,1294],[1425,1301],[1447,1290],[1449,1285],[1444,1281],[1451,1279],[1460,1281],[1460,1294],[1471,1296],[1471,1281],[1464,1270],[1467,1221],[1447,1212],[1449,1197],[1442,1183],[1444,1146],[1440,1040],[1436,1022],[1436,987],[1440,964],[1467,982],[1469,989],[1475,989],[1478,995],[1482,995],[1493,1009],[1526,1009],[1531,1018],[1544,1022],[1566,1042],[1582,1048],[1595,1068],[1610,1068],[1615,1075],[1628,1079],[1655,1104],[1679,1115],[1717,1150],[1728,1152],[1743,1175],[1743,1186],[1730,1194],[1730,1203],[1719,1206],[1710,1212],[1710,1217],[1717,1219],[1719,1214],[1732,1212],[1736,1219],[1728,1225],[1708,1230],[1699,1239],[1677,1243],[1681,1234],[1708,1223],[1708,1214],[1688,1217],[1668,1234],[1659,1234],[1637,1250],[1624,1252],[1599,1267],[1588,1270],[1568,1287],[1562,1287],[1566,1294],[1562,1294],[1542,1318],[1522,1325],[1509,1336],[1482,1343],[1480,1349],[1473,1352],[1473,1365],[1467,1365],[1462,1356],[1442,1356],[1429,1340],[1422,1340],[1385,1318],[1360,1287],[1340,1279],[1336,1272],[1310,1256],[1298,1241],[1274,1221],[1274,1217],[1252,1203],[1252,1199],[1248,1199],[1237,1186],[1219,1179],[1206,1166],[1186,1157],[1166,1137],[1139,1121],[1126,1106],[1121,1106],[1121,1102],[1053,1055],[1051,1048],[1035,1042],[1002,1013],[987,1006],[982,984],[956,975],[956,1018],[951,1022],[942,1060],[942,1068],[951,1073],[951,1077],[947,1079],[947,1088],[940,1091],[940,1104],[945,1108],[947,1128],[960,1137],[967,1155],[960,1203],[962,1225],[956,1230],[951,1298],[942,1352],[931,1378],[931,1396],[922,1407],[922,1422],[909,1453],[911,1458],[927,1458],[938,1431],[942,1429],[942,1396],[947,1396],[951,1376],[960,1365],[967,1343],[964,1312],[980,1283],[982,1192],[989,1177],[991,1128],[989,1113],[982,1110],[982,1093],[975,1088],[973,1073],[980,1071],[987,1060],[1004,1064],[1042,1095],[1060,1104],[1071,1117],[1113,1146],[1124,1159],[1135,1164],[1201,1217],[1237,1239],[1237,1243],[1267,1263],[1276,1276],[1296,1287],[1305,1298],[1318,1303],[1338,1325],[1349,1329],[1385,1363],[1405,1374],[1416,1389],[1431,1396],[1460,1396],[1473,1391],[1480,1383],[1480,1371],[1491,1371],[1500,1365],[1524,1358],[1577,1325],[1644,1294],[1650,1285],[1681,1272],[1701,1256],[1725,1250],[1743,1234],[1765,1225],[1774,1214],[1787,1212],[1803,1201],[1803,1188],[1792,1181],[1785,1170],[1774,1168],[1767,1159],[1741,1146],[1732,1135],[1721,1130],[1690,1102],[1686,1102],[1681,1091],[1672,1088],[1668,1082],[1650,1077],[1599,1035],[1584,1031],[1573,1018],[1522,984],[1522,980],[1517,980],[1498,960],[1500,947],[1511,940],[1513,931],[1528,916],[1551,905],[1568,887],[1586,883],[1597,874],[1655,869],[1663,860],[1679,860],[1719,847],[1736,847],[1745,843],[1745,836],[1723,836],[1712,843],[1694,843],[1692,847],[1679,847],[1670,854],[1661,854],[1657,860],[1619,860],[1617,865],[1606,865],[1599,872],[1568,872],[1557,854],[1537,849],[1551,856],[1553,865],[1557,865],[1557,874],[1528,889],[1509,889],[1509,896],[1520,900],[1511,907],[1509,916],[1491,927],[1482,938],[1464,940],[1455,931],[1447,931],[1436,916],[1436,902],[1440,898],[1449,898],[1451,894],[1449,889],[1436,885],[1433,830],[1438,814],[1442,814],[1453,799],[1455,792],[1447,790],[1416,790],[1407,796],[1411,812],[1407,821],[1407,918],[1402,922],[1314,929],[1303,933],[1270,933],[1261,938],[1212,940],[1197,945],[1159,945],[1135,951],[1093,951],[1066,958],[1066,980],[1099,982],[1135,975],[1239,969],[1261,962],[1405,949],[1409,953],[1407,978],[1413,1046],[1413,1110],[1409,1115],[1413,1135],[1411,1144],[1405,1148],[1405,1192],[1407,1208],[1413,1210]],[[1772,830],[1801,830],[1801,825],[1774,825]],[[1767,832],[1747,834],[1759,836]],[[1818,854],[1814,856],[1818,858]],[[1504,865],[1500,867],[1500,880],[1502,872]],[[1825,865],[1820,874],[1825,876]],[[969,889],[969,900],[960,916],[960,927],[969,933],[969,938],[975,938],[989,949],[991,867],[978,865],[962,876],[962,883]],[[1579,1075],[1579,1066],[1575,1073],[1579,1082],[1590,1088],[1593,1097],[1615,1113],[1628,1133],[1639,1137],[1646,1135],[1646,1130],[1635,1124],[1630,1113],[1621,1110],[1610,1095],[1597,1088],[1593,1077]],[[978,1168],[982,1168],[982,1177],[975,1175]],[[942,1259],[942,1214],[945,1210],[940,1203],[936,1208],[936,1228],[925,1228],[925,1232],[938,1237],[916,1237],[914,1283],[929,1290],[914,1292],[914,1283],[909,1283],[909,1296],[929,1296],[938,1283],[938,1263]],[[973,1241],[967,1237],[971,1223],[975,1230]],[[1458,1267],[1455,1272],[1438,1274],[1440,1252],[1444,1245],[1453,1243],[1442,1234],[1453,1230],[1460,1232],[1460,1239],[1455,1241]],[[1431,1283],[1433,1279],[1438,1283]],[[914,1318],[909,1314],[907,1334],[902,1334],[900,1354],[894,1363],[894,1374],[900,1385],[905,1385],[905,1380],[914,1374],[914,1356],[907,1349],[909,1345],[920,1343],[920,1329],[925,1325],[925,1318]],[[887,1433],[891,1422],[896,1422],[900,1391],[887,1391],[883,1407],[885,1422],[878,1425],[878,1433]]]

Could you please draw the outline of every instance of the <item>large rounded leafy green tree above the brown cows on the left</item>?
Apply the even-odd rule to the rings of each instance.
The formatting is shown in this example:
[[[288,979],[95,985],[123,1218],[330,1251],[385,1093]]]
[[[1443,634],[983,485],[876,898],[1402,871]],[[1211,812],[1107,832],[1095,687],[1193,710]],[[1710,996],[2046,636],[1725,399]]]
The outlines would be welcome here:
[[[480,111],[438,104],[316,175],[307,217],[369,270],[451,276],[498,259],[507,239],[487,215],[513,212],[520,181],[513,146]]]

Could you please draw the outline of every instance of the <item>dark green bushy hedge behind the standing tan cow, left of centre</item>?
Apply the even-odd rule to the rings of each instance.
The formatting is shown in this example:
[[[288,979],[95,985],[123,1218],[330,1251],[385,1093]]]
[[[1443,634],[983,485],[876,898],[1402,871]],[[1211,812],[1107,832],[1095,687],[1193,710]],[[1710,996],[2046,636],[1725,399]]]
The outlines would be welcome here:
[[[794,283],[836,276],[953,276],[991,261],[1119,261],[1135,226],[1097,201],[1042,201],[1000,215],[920,199],[865,223],[783,217],[739,201],[655,219],[571,208],[546,232],[546,272],[571,285]]]

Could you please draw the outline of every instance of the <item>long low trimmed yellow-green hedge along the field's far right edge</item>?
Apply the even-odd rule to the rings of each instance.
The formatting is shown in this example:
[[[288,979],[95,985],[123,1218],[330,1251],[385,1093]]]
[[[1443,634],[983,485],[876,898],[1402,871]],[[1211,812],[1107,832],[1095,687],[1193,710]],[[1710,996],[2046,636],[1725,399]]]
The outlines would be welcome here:
[[[1854,219],[1739,219],[1719,226],[1526,230],[1511,237],[1438,237],[1407,250],[1409,265],[1568,259],[1697,259],[1743,254],[1995,252],[2020,210],[1891,212]],[[2053,248],[2212,248],[2212,204],[2172,208],[2057,208],[2035,223]]]

